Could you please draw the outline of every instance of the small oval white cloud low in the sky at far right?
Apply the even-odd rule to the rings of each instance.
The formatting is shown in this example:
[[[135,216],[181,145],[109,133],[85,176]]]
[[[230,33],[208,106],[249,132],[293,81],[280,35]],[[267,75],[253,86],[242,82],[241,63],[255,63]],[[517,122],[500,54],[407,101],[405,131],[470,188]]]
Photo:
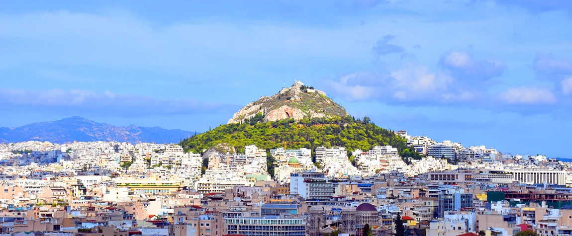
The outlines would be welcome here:
[[[501,94],[501,99],[511,105],[536,105],[556,102],[556,98],[550,90],[535,87],[511,87]]]

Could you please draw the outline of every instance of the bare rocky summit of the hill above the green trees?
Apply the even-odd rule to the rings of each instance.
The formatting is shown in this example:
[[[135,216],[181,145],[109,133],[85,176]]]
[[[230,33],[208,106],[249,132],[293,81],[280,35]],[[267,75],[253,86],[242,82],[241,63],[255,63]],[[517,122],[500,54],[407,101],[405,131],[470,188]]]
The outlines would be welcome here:
[[[328,98],[323,91],[305,86],[296,81],[271,97],[261,97],[240,109],[228,123],[239,123],[252,118],[257,113],[264,114],[264,121],[277,121],[304,117],[344,117],[348,115],[344,107]]]

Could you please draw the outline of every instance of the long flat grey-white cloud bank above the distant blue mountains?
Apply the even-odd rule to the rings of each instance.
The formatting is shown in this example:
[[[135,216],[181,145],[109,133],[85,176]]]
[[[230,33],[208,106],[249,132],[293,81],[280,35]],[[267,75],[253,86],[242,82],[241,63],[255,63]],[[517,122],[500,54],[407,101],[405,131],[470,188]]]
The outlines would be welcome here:
[[[33,109],[42,112],[145,117],[149,115],[199,114],[225,111],[231,106],[189,99],[156,99],[109,91],[89,90],[26,91],[0,89],[0,109]],[[234,107],[232,107],[234,108]]]

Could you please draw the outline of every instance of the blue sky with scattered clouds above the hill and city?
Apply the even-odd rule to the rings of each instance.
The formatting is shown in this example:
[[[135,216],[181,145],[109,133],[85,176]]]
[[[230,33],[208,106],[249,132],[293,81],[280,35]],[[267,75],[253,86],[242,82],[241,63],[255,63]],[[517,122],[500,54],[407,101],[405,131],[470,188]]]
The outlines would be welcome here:
[[[294,79],[410,134],[570,158],[572,1],[13,1],[0,126],[189,131]]]

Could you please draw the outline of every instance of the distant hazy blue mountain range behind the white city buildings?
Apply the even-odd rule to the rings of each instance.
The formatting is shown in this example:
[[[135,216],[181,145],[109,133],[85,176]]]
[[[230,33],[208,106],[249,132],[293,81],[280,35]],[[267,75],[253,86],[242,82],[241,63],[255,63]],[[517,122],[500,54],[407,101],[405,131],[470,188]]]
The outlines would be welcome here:
[[[114,126],[97,123],[82,117],[70,117],[53,122],[32,123],[17,128],[0,127],[0,143],[23,141],[48,141],[69,143],[73,141],[118,141],[178,143],[192,133],[183,130],[166,130],[161,127]]]

